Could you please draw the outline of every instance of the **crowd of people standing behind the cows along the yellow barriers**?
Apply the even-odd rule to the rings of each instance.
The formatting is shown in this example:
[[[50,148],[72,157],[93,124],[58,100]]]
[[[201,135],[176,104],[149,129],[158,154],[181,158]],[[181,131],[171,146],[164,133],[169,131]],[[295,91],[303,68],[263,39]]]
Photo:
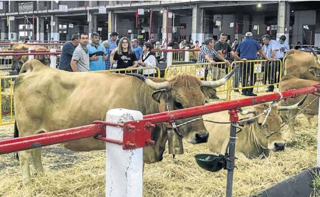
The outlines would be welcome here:
[[[89,40],[90,39],[90,40]],[[196,63],[209,63],[205,66],[204,80],[207,80],[209,71],[212,71],[212,80],[221,78],[221,70],[230,67],[232,61],[244,61],[245,63],[236,68],[233,86],[235,92],[239,92],[238,85],[241,79],[242,94],[245,96],[256,96],[253,93],[253,86],[256,82],[254,74],[254,62],[258,56],[266,59],[264,62],[265,76],[264,82],[268,81],[267,92],[273,92],[273,83],[278,82],[279,74],[282,72],[276,59],[282,61],[285,53],[289,50],[286,36],[282,35],[279,40],[272,40],[266,34],[262,36],[262,43],[253,39],[253,34],[247,32],[239,39],[231,42],[226,33],[221,33],[217,41],[208,37],[199,45],[199,41],[190,40],[189,43],[182,39],[179,49],[195,49],[192,52]],[[155,42],[155,49],[163,49],[166,45],[161,41]],[[172,39],[168,40],[168,46],[173,47]],[[112,32],[108,40],[102,41],[101,36],[93,32],[89,38],[86,32],[73,34],[71,40],[66,42],[62,49],[59,69],[69,72],[101,71],[114,69],[156,67],[157,62],[163,57],[162,52],[152,53],[153,44],[145,42],[143,47],[139,46],[137,39],[131,41],[127,37],[118,39],[117,32]],[[217,62],[223,62],[225,67],[217,67]],[[120,73],[125,73],[121,71]],[[150,76],[156,73],[155,69],[143,69],[143,75]],[[276,76],[278,73],[278,76]],[[244,88],[245,87],[245,88]]]

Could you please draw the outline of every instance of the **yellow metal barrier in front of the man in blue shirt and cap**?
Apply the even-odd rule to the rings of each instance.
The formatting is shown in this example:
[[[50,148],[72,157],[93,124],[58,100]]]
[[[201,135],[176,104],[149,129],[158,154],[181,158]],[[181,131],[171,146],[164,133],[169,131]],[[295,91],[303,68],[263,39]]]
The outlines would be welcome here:
[[[276,86],[282,78],[282,61],[267,60],[233,61],[231,67],[239,65],[228,85],[229,98],[231,91],[254,87]]]

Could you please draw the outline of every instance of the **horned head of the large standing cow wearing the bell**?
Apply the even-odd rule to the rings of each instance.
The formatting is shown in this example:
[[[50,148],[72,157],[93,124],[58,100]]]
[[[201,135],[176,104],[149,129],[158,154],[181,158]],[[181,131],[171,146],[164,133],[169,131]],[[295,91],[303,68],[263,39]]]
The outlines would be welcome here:
[[[145,81],[155,91],[152,94],[152,98],[164,106],[165,111],[174,111],[204,105],[206,99],[215,96],[216,91],[214,87],[221,86],[227,82],[234,71],[235,69],[218,81],[201,81],[192,75],[179,75],[168,81],[154,82],[142,75],[134,73],[129,73],[128,75],[133,75]],[[192,144],[207,142],[208,131],[204,126],[201,116],[175,120],[175,124],[179,125],[191,120],[195,121],[181,125],[175,129],[176,134]]]

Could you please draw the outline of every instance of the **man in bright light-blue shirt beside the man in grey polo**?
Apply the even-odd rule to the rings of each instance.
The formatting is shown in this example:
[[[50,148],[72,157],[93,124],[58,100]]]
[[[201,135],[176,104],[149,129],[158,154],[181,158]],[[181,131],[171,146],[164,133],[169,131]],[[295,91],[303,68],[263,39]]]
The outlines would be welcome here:
[[[99,43],[99,34],[93,32],[91,34],[91,43],[87,45],[90,57],[89,70],[102,71],[106,70],[106,60],[108,58],[105,46]]]

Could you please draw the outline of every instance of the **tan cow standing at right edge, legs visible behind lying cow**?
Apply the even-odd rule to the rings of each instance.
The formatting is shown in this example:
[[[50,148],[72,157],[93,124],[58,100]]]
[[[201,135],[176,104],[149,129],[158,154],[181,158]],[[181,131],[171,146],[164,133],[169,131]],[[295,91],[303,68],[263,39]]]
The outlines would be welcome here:
[[[303,87],[309,87],[311,85],[315,85],[318,84],[318,81],[314,81],[314,80],[307,80],[307,79],[299,79],[295,76],[291,76],[291,75],[286,75],[281,79],[280,82],[280,86],[279,86],[279,91],[287,91],[287,90],[291,90],[291,89],[299,89],[299,88],[303,88]],[[286,100],[282,100],[280,102],[281,106],[288,106],[288,105],[292,105],[293,103],[296,103],[299,99],[302,99],[303,96],[299,96],[297,98],[287,98]],[[306,101],[304,102],[304,104],[302,104],[301,106],[299,106],[298,109],[296,110],[290,110],[287,112],[281,112],[281,116],[283,118],[283,120],[289,120],[292,117],[294,117],[298,110],[301,110],[302,108],[304,108],[306,105],[308,105],[311,101],[313,101],[317,96],[314,96],[312,94],[308,95]],[[311,118],[314,115],[318,114],[318,105],[319,105],[319,98],[317,98],[314,102],[312,102],[312,104],[310,104],[306,110],[303,111],[303,114],[305,115],[305,117],[308,119],[309,124],[311,124]],[[289,131],[290,131],[290,138],[293,140],[295,139],[295,131],[294,131],[294,121],[295,118],[293,118],[289,123]]]

